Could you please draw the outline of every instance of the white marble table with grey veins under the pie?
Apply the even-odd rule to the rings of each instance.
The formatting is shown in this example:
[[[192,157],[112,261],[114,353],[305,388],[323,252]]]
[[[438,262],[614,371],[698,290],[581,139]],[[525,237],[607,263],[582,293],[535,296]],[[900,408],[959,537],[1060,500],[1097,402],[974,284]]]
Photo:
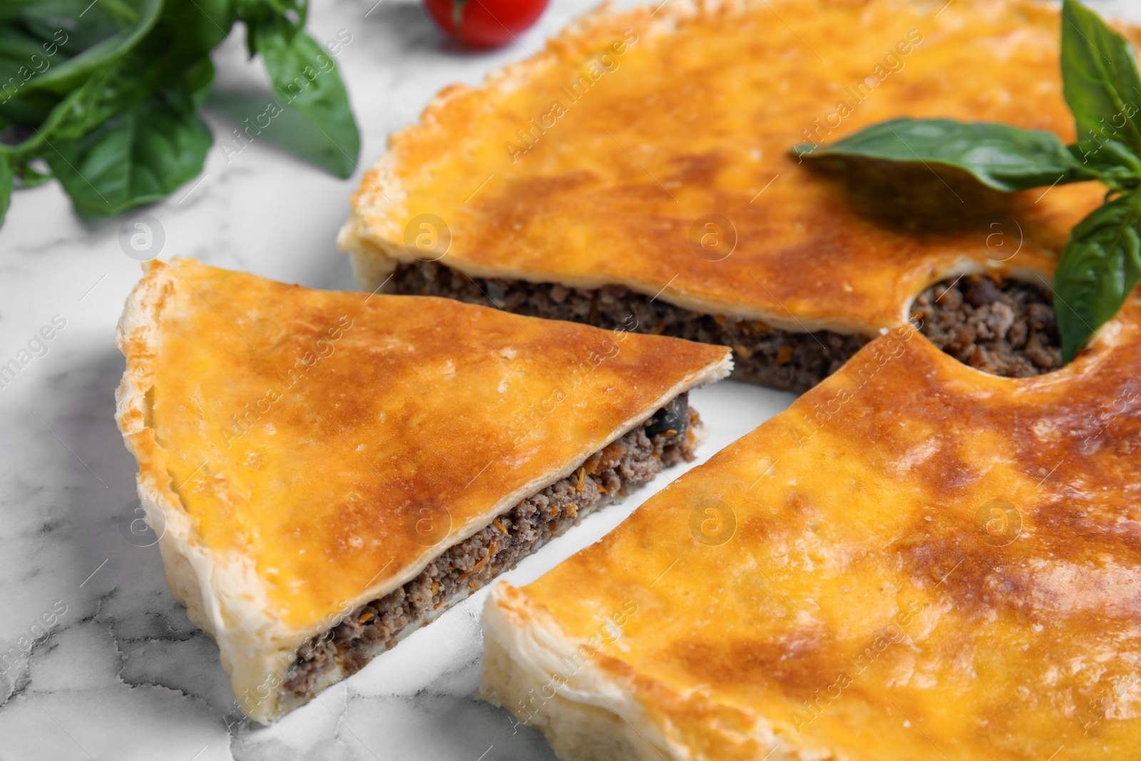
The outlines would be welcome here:
[[[351,35],[339,60],[366,165],[439,88],[478,83],[593,5],[555,0],[518,46],[471,55],[444,42],[416,2],[374,2],[318,1],[309,23],[322,41]],[[1136,0],[1095,6],[1141,19]],[[260,65],[236,46],[216,59],[219,88],[262,87]],[[233,128],[208,120],[216,138]],[[202,178],[148,213],[164,230],[163,258],[351,289],[333,240],[359,173],[339,180],[266,143],[227,160],[216,145]],[[113,419],[123,367],[114,326],[139,267],[119,227],[82,226],[48,185],[18,192],[0,228],[0,364],[42,326],[64,324],[0,388],[0,760],[553,759],[541,735],[472,697],[486,592],[278,724],[242,722],[218,650],[171,597],[157,549],[122,531],[135,461]],[[703,456],[791,399],[731,382],[696,392],[711,430]],[[535,578],[664,485],[592,516],[507,577]]]

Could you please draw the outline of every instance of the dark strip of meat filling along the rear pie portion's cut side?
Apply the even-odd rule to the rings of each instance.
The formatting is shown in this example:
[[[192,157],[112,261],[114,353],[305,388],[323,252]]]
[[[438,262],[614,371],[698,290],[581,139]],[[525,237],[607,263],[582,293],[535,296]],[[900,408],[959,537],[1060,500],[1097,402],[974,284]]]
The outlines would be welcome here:
[[[529,317],[728,346],[734,354],[731,378],[788,391],[812,388],[868,340],[831,331],[794,333],[755,319],[704,315],[622,285],[583,290],[557,283],[470,277],[437,262],[399,264],[391,282],[396,293],[443,296]]]

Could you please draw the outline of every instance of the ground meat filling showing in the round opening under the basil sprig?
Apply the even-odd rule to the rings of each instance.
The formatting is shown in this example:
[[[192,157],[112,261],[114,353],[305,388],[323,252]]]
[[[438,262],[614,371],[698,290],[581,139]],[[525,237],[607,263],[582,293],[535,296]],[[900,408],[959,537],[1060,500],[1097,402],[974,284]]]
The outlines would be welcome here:
[[[932,343],[971,367],[1008,378],[1061,367],[1050,292],[1031,283],[978,275],[944,281],[920,293],[912,315]]]

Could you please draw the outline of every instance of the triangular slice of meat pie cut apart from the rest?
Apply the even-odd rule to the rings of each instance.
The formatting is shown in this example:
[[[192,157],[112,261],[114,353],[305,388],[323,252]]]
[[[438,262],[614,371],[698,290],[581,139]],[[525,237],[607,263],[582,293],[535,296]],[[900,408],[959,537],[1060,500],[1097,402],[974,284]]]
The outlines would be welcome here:
[[[691,458],[728,350],[152,262],[119,426],[170,588],[268,722]]]

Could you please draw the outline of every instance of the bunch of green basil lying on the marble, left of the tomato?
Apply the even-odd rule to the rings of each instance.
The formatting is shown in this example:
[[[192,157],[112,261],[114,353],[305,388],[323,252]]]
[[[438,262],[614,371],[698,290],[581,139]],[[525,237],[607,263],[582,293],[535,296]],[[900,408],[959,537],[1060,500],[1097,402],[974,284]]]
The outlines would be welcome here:
[[[0,1],[0,224],[14,188],[50,176],[87,221],[154,203],[197,176],[212,144],[199,116],[215,79],[210,51],[236,21],[280,104],[314,128],[310,141],[330,156],[321,165],[348,177],[361,138],[332,56],[305,32],[307,6]]]

